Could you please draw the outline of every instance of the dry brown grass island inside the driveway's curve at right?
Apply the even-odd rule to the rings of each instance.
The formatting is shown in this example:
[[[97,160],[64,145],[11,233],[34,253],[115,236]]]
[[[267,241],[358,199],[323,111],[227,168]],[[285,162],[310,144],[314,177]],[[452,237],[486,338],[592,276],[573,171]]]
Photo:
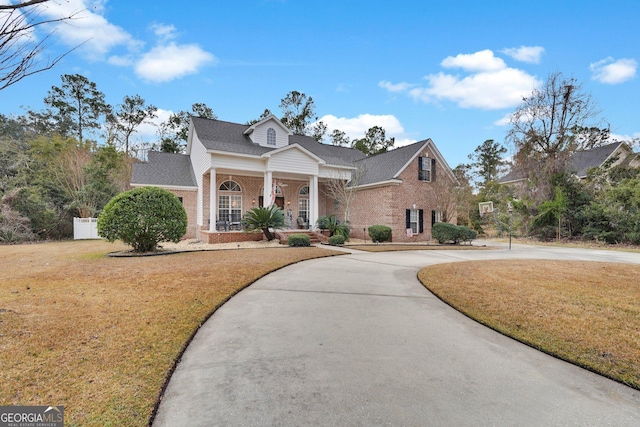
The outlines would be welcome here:
[[[428,267],[418,277],[469,317],[640,389],[640,266],[482,261]]]

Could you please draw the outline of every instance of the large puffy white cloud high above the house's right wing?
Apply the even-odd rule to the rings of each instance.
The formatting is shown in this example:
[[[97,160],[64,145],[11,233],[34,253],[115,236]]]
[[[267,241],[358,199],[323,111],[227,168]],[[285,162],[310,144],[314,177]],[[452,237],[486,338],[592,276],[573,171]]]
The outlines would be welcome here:
[[[452,101],[463,108],[494,110],[514,107],[542,82],[524,70],[508,67],[490,50],[445,58],[444,67],[459,67],[469,73],[454,75],[440,72],[425,77],[426,86],[409,83],[378,85],[392,92],[406,92],[423,102]]]

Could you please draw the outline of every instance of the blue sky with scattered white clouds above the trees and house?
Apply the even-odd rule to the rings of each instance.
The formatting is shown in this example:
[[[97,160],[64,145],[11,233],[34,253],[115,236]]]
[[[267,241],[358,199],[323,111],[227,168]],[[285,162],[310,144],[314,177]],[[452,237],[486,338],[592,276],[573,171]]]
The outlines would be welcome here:
[[[7,0],[0,0],[4,3]],[[640,137],[640,2],[56,0],[47,54],[85,42],[52,70],[0,92],[0,113],[44,107],[62,74],[113,105],[139,94],[159,119],[204,102],[220,120],[279,114],[292,90],[351,137],[371,126],[404,145],[434,140],[450,166],[486,139],[550,73],[575,77],[619,138]],[[35,37],[43,37],[37,33]],[[154,139],[147,126],[139,141]]]

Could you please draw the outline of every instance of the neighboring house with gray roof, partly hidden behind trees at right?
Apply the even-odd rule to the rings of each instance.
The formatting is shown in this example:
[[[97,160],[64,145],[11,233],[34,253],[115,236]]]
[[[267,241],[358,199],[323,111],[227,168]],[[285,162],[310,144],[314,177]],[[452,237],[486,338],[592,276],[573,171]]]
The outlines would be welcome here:
[[[614,142],[590,150],[576,151],[567,164],[567,171],[579,179],[585,179],[589,169],[603,166],[640,167],[640,159],[626,142]],[[518,184],[525,177],[517,171],[510,171],[498,180],[501,184]]]

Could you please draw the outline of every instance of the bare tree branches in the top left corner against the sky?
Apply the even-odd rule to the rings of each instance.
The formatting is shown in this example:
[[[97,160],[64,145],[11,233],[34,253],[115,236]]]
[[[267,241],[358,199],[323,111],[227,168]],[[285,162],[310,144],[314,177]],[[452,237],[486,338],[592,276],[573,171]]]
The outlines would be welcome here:
[[[45,3],[53,0],[29,0],[0,5],[0,90],[25,77],[53,68],[69,52],[54,58],[43,58],[50,31],[37,40],[35,30],[45,24],[73,19],[79,12],[59,18],[42,19]]]

